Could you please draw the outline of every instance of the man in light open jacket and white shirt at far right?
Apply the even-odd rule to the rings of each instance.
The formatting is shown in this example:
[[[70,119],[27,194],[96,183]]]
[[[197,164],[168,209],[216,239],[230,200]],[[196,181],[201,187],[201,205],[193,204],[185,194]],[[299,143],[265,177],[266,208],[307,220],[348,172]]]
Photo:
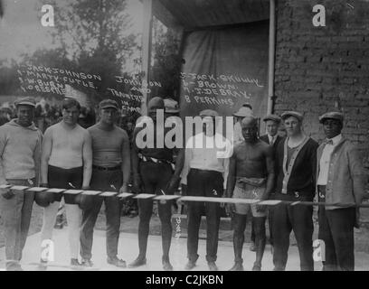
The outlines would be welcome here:
[[[327,112],[319,117],[326,140],[317,149],[318,200],[339,203],[319,206],[318,238],[326,246],[323,270],[355,269],[354,227],[358,228],[359,208],[364,197],[364,168],[354,144],[341,135],[344,116]]]

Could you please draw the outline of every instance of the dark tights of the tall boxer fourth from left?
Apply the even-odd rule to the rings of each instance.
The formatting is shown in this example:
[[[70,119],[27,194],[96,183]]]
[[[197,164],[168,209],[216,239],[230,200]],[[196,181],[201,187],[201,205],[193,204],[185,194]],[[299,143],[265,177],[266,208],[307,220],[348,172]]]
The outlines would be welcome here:
[[[173,170],[168,163],[140,163],[140,175],[145,193],[162,195],[166,193],[173,174]],[[162,247],[163,258],[169,258],[169,248],[172,241],[172,201],[166,203],[158,202],[159,218],[162,226]],[[153,200],[138,200],[138,248],[139,256],[145,257],[147,253],[147,238],[149,233],[150,219],[153,213]]]

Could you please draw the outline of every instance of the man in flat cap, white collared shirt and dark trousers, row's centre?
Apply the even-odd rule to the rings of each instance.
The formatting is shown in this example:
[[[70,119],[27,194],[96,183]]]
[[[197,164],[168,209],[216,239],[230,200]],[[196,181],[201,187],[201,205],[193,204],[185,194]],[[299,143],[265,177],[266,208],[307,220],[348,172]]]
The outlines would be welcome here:
[[[203,110],[203,132],[190,137],[185,147],[185,165],[182,182],[187,185],[188,196],[221,198],[226,188],[229,157],[232,155],[231,142],[215,132],[216,111]],[[213,128],[209,128],[213,127]],[[221,140],[223,146],[220,147]],[[221,218],[220,204],[216,202],[188,203],[188,238],[185,269],[194,268],[198,258],[199,227],[201,214],[205,206],[206,212],[206,260],[209,269],[218,270],[215,265],[218,249],[218,231]]]

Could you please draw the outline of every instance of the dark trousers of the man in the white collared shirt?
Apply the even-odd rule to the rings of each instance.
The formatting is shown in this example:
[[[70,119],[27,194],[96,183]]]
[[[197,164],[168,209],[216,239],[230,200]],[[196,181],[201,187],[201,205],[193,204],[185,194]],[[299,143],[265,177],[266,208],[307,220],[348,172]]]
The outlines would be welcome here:
[[[221,198],[223,177],[221,172],[191,169],[187,176],[187,195]],[[187,257],[195,262],[198,258],[199,228],[201,214],[205,206],[206,213],[206,260],[216,261],[218,251],[218,232],[221,219],[220,203],[190,201],[188,203]]]

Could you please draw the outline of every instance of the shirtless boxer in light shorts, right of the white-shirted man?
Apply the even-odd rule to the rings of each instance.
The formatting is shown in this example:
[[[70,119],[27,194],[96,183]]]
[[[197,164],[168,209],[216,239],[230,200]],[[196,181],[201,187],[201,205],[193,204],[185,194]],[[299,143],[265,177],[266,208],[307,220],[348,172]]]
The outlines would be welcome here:
[[[273,148],[265,144],[258,136],[258,123],[255,117],[244,117],[241,121],[244,141],[238,144],[230,160],[230,171],[226,197],[240,199],[267,200],[274,182]],[[261,259],[265,248],[264,206],[255,204],[227,204],[228,212],[233,217],[233,248],[234,266],[231,271],[241,271],[243,233],[246,228],[246,218],[251,210],[255,229],[256,261],[253,271],[260,271]]]

